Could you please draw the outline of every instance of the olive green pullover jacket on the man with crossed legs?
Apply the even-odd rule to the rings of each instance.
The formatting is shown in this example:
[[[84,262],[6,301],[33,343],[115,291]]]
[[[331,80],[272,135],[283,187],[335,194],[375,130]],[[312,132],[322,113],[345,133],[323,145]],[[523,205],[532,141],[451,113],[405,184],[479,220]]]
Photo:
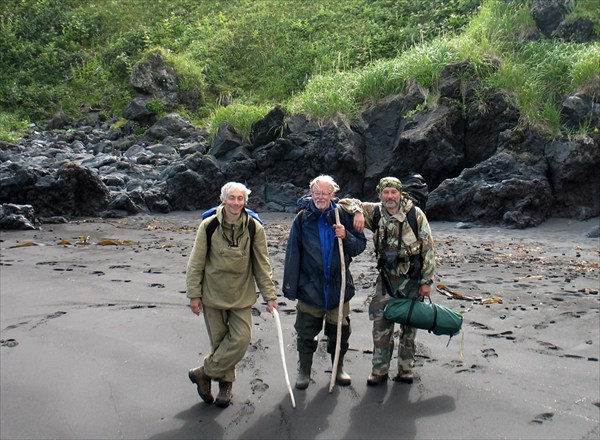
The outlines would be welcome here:
[[[206,226],[215,217],[204,219],[186,272],[187,297],[202,298],[202,303],[216,309],[240,309],[256,302],[256,286],[265,301],[277,299],[273,271],[269,262],[264,227],[246,211],[231,226],[223,220],[223,206],[216,212],[219,225],[212,234],[206,255]],[[256,223],[253,250],[250,252],[248,221]]]

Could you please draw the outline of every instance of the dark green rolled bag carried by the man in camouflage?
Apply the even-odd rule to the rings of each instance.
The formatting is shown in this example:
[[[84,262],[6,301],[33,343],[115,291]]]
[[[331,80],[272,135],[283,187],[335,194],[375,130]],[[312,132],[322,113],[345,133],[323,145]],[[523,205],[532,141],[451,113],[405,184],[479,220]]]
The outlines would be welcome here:
[[[429,298],[429,297],[428,297]],[[454,336],[462,326],[462,315],[448,307],[409,298],[392,298],[383,315],[390,321],[427,330],[438,336]]]

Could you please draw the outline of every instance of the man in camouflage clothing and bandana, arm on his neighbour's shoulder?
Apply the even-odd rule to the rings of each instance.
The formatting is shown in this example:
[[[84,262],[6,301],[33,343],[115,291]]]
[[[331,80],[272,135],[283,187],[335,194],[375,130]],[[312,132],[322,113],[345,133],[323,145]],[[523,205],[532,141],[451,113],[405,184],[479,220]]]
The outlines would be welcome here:
[[[431,293],[435,272],[434,242],[427,217],[414,206],[402,182],[384,177],[377,185],[379,203],[342,199],[340,205],[355,212],[354,227],[373,231],[378,268],[374,294],[371,295],[369,318],[373,321],[373,367],[368,385],[387,381],[394,351],[394,322],[384,317],[385,307],[394,297],[425,297]],[[416,214],[417,233],[409,221]],[[412,383],[417,329],[401,325],[398,346],[398,375],[394,380]]]

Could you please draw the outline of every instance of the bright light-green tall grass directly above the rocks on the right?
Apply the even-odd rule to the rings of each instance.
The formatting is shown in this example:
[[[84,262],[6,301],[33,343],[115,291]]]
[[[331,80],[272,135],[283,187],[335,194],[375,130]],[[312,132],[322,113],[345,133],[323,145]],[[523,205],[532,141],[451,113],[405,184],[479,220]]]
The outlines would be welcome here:
[[[549,40],[530,41],[535,28],[524,2],[486,2],[461,35],[438,37],[392,60],[348,73],[313,77],[288,108],[319,118],[343,113],[351,118],[367,102],[403,92],[417,84],[435,95],[436,81],[452,62],[469,60],[481,86],[507,90],[521,111],[521,122],[556,135],[560,106],[567,95],[585,88],[600,93],[600,46]],[[494,60],[493,62],[491,62]]]

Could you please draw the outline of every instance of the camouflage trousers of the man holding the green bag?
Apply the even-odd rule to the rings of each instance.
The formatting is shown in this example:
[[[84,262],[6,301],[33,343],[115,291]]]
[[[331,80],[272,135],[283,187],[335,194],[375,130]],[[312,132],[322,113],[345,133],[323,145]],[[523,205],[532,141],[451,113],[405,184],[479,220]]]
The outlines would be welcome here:
[[[408,283],[401,293],[408,298],[418,295],[418,285]],[[397,287],[397,285],[394,285]],[[369,305],[369,319],[373,321],[373,374],[387,374],[394,353],[394,322],[384,318],[383,310],[390,300],[383,294],[381,276],[377,278],[375,294]],[[401,336],[398,343],[398,370],[412,370],[415,361],[415,337],[417,329],[400,324]]]

